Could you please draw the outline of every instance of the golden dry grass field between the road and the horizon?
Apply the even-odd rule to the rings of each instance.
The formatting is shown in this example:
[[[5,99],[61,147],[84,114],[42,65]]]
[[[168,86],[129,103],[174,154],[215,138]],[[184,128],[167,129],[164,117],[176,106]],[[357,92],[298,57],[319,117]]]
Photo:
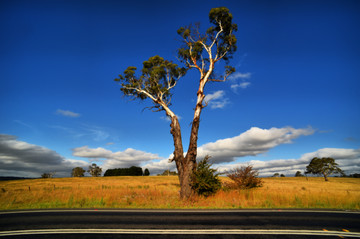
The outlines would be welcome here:
[[[221,178],[222,181],[229,180]],[[39,208],[360,209],[360,179],[264,178],[261,188],[180,200],[176,176],[27,179],[0,182],[0,210]]]

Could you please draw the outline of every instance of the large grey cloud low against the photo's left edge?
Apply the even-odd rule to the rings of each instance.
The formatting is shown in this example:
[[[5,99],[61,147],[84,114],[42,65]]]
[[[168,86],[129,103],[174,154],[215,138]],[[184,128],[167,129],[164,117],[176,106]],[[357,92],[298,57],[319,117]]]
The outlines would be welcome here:
[[[56,172],[55,176],[69,177],[75,167],[87,167],[81,160],[66,159],[57,152],[24,141],[15,136],[0,135],[0,175],[40,177]]]

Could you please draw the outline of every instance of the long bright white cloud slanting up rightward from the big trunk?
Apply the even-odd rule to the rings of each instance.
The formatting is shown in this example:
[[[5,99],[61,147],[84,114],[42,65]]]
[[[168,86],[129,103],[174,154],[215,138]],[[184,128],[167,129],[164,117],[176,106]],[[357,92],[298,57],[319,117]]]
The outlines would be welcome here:
[[[237,157],[262,154],[280,144],[292,143],[295,138],[313,133],[314,130],[310,127],[305,129],[252,127],[238,136],[202,145],[198,148],[198,157],[210,155],[215,163],[232,162]]]

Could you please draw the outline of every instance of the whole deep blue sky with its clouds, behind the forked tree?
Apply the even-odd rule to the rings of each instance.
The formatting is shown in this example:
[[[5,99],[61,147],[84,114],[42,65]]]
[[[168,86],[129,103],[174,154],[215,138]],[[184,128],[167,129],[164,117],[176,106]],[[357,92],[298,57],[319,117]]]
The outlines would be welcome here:
[[[225,6],[238,24],[232,79],[206,87],[199,157],[294,175],[312,157],[360,171],[359,1],[0,0],[0,175],[69,176],[76,166],[174,169],[170,122],[113,81],[160,55],[176,30]],[[223,72],[221,65],[216,69]],[[174,90],[184,147],[199,80]]]

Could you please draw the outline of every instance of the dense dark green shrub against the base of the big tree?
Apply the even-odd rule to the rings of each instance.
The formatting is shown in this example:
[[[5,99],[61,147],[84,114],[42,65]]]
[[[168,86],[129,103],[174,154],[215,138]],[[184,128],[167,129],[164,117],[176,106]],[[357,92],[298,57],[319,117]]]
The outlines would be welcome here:
[[[201,196],[208,197],[221,189],[221,181],[216,169],[211,168],[210,156],[205,156],[191,175],[192,189]]]

